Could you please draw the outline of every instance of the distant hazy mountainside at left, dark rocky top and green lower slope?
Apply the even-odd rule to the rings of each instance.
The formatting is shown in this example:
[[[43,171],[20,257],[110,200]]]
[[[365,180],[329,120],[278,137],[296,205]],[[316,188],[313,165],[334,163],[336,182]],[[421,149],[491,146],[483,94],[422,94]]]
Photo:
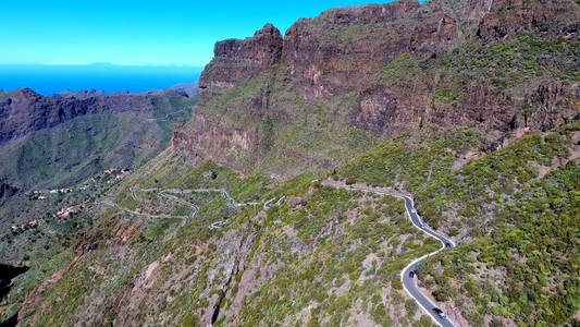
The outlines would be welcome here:
[[[110,167],[155,157],[195,99],[175,90],[150,94],[81,92],[0,94],[0,175],[22,190],[67,186]]]

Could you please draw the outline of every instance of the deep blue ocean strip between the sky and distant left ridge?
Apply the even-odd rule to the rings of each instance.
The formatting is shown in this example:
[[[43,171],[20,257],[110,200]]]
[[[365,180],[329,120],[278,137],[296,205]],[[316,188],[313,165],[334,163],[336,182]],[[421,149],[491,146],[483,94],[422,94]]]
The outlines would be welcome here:
[[[29,87],[41,95],[63,90],[143,93],[193,83],[203,68],[98,64],[0,64],[0,89]]]

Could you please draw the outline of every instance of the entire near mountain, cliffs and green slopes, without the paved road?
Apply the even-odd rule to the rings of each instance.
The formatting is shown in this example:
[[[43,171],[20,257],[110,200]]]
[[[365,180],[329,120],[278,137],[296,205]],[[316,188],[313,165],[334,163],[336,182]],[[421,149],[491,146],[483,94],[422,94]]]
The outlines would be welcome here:
[[[400,201],[312,182],[334,179],[409,194],[458,243],[418,282],[459,326],[575,326],[579,22],[568,0],[398,1],[218,43],[170,147],[87,199],[94,228],[3,312],[430,326],[399,274],[440,244]]]

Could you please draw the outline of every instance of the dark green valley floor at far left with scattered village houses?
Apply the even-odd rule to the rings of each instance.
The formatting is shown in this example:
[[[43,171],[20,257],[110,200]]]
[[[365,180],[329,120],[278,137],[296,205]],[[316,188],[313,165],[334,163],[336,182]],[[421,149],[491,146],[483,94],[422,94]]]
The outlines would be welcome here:
[[[77,240],[114,213],[103,210],[97,214],[88,206],[67,218],[61,218],[57,216],[57,211],[73,205],[92,204],[109,191],[114,180],[114,174],[101,172],[86,181],[88,186],[84,191],[44,194],[45,199],[21,194],[0,206],[0,215],[5,214],[10,219],[2,226],[0,257],[7,263],[29,267],[26,274],[13,280],[8,299],[0,304],[1,319],[17,311],[18,302],[24,300],[26,292],[39,287],[57,271],[65,269],[74,261]],[[36,227],[30,227],[29,221],[35,221]],[[11,230],[12,226],[22,225],[26,226],[24,230]]]

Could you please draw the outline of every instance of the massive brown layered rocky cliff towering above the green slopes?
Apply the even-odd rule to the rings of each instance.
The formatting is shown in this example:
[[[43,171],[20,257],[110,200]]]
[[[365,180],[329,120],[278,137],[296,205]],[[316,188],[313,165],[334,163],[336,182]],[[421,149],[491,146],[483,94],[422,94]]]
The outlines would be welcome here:
[[[402,0],[300,19],[283,39],[267,24],[251,38],[217,43],[201,101],[172,144],[195,161],[287,172],[366,149],[328,152],[329,134],[547,130],[577,114],[578,22],[571,0]],[[285,162],[268,159],[281,154]]]

